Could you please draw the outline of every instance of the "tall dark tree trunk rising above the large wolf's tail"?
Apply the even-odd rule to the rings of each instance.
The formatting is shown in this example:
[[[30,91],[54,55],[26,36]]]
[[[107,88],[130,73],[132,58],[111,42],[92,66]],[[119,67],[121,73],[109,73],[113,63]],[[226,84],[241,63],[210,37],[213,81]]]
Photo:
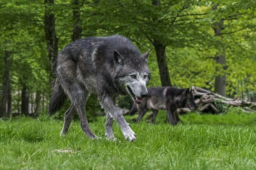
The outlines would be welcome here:
[[[56,65],[58,57],[58,40],[55,34],[55,16],[53,13],[54,0],[44,0],[44,31],[46,35],[48,57],[50,62],[49,82],[54,87],[56,79]]]

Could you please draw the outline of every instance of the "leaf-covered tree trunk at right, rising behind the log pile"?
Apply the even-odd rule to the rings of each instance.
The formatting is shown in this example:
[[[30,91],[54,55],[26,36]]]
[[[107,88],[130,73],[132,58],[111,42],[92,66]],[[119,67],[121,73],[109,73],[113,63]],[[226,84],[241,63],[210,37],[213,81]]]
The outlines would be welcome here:
[[[215,10],[218,8],[217,6],[213,6],[212,10]],[[213,24],[214,34],[215,36],[221,37],[221,42],[223,42],[223,37],[221,35],[221,30],[223,30],[223,23],[224,20],[221,20],[220,22]],[[215,76],[215,84],[214,84],[214,92],[220,94],[221,96],[226,96],[226,54],[225,54],[225,45],[222,44],[220,49],[218,49],[219,52],[216,52],[215,54],[215,60],[217,64],[220,64],[222,66],[221,69],[216,68],[216,76]]]

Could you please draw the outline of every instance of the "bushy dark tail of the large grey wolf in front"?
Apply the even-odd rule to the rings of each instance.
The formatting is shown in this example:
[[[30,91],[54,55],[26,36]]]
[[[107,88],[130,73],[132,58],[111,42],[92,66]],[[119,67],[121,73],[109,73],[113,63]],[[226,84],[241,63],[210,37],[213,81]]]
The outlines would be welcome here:
[[[64,93],[64,90],[61,87],[61,84],[57,78],[53,88],[53,94],[49,103],[49,115],[53,115],[54,113],[56,113],[56,111],[60,110],[61,106],[64,105],[66,99],[67,95]]]

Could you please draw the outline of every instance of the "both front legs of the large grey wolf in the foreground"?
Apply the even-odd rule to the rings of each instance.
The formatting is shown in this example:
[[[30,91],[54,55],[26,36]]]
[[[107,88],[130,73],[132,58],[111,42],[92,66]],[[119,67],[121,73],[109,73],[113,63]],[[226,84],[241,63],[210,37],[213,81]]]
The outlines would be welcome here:
[[[133,142],[136,139],[136,134],[134,133],[133,130],[131,130],[130,125],[125,121],[125,118],[122,114],[122,110],[117,108],[114,105],[113,99],[109,96],[104,96],[104,97],[100,96],[99,99],[105,111],[111,114],[110,116],[112,116],[116,120],[116,122],[119,124],[122,130],[122,133],[125,136],[125,139],[129,140],[130,142]],[[110,120],[108,120],[107,118],[106,124],[108,126],[108,130],[110,130],[110,127],[112,130],[112,125],[108,121]],[[112,132],[109,131],[108,135],[111,136],[111,133],[113,134],[113,131]],[[106,134],[107,134],[107,127],[106,127]]]

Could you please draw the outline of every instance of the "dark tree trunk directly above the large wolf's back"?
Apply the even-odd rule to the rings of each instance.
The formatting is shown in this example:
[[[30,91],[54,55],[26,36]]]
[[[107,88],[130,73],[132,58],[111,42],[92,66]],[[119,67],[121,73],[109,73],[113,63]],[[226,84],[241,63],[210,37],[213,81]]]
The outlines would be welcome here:
[[[73,41],[81,39],[82,27],[79,11],[79,0],[72,1],[73,6]]]

